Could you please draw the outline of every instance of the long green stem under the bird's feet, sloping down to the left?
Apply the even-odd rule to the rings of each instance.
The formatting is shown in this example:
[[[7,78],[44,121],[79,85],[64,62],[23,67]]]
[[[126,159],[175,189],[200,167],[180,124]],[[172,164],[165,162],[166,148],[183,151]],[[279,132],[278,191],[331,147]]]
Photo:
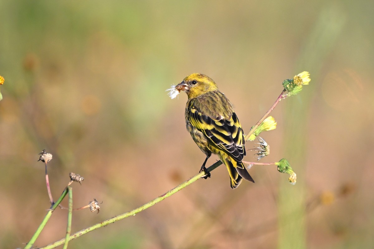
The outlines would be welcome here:
[[[215,164],[213,164],[212,166],[210,166],[207,170],[210,172],[212,171],[213,169],[217,168],[218,166],[220,166],[222,164],[221,161],[218,161],[216,162]],[[190,178],[190,180],[187,180],[185,181],[184,183],[181,183],[179,186],[175,187],[174,189],[166,192],[165,194],[162,194],[161,196],[157,197],[156,199],[154,200],[151,200],[150,202],[144,204],[143,206],[139,207],[139,208],[136,208],[130,212],[127,212],[125,214],[121,214],[121,215],[118,215],[116,217],[113,217],[113,218],[110,218],[108,220],[105,220],[105,221],[102,221],[100,223],[97,223],[91,227],[88,227],[86,229],[83,229],[83,230],[80,230],[79,232],[77,233],[74,233],[70,236],[69,240],[72,240],[72,239],[76,239],[77,237],[80,237],[88,232],[91,232],[97,228],[100,228],[100,227],[104,227],[108,224],[111,224],[111,223],[114,223],[116,221],[119,221],[119,220],[122,220],[124,218],[127,218],[129,216],[134,216],[135,214],[137,214],[138,212],[141,212],[147,208],[150,208],[151,206],[153,206],[154,204],[156,203],[159,203],[160,201],[162,201],[163,199],[177,193],[179,190],[181,189],[184,189],[185,187],[187,187],[188,185],[190,185],[191,183],[199,180],[201,177],[203,177],[205,175],[205,172],[200,172],[199,174],[195,175],[194,177]],[[65,242],[65,239],[61,239],[61,240],[58,240],[52,244],[49,244],[45,247],[42,247],[40,249],[50,249],[50,248],[55,248],[59,245],[62,245],[63,243]]]

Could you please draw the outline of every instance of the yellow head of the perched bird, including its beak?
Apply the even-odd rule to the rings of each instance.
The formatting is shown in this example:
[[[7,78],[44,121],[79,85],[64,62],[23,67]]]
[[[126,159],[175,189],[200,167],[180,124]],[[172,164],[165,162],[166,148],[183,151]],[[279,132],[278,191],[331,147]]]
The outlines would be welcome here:
[[[218,90],[217,84],[204,74],[191,74],[175,86],[178,91],[185,91],[188,99],[198,97],[209,91]]]

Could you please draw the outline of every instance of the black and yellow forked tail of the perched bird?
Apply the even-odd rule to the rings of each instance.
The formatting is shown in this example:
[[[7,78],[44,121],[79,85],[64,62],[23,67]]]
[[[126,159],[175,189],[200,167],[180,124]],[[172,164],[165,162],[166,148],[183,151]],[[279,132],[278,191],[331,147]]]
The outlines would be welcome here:
[[[232,189],[236,189],[239,186],[239,184],[242,182],[242,178],[247,181],[251,181],[252,183],[255,182],[251,175],[249,175],[243,163],[239,164],[231,158],[225,158],[223,161],[227,167],[227,170],[229,171]]]

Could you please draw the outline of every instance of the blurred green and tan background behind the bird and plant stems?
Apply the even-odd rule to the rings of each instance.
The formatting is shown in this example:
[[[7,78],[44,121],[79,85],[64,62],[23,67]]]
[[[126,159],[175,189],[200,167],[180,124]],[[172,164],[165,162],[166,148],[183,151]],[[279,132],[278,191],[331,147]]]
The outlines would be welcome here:
[[[310,85],[272,113],[263,162],[285,157],[297,184],[272,166],[230,189],[212,172],[135,217],[70,248],[373,248],[371,1],[0,1],[0,248],[23,247],[69,172],[73,232],[130,211],[195,175],[205,155],[186,131],[186,94],[165,90],[200,72],[235,105],[244,131],[282,81]],[[250,149],[255,144],[246,143]],[[246,161],[253,161],[251,152]],[[212,156],[212,164],[217,156]],[[67,206],[67,202],[64,202]],[[36,242],[65,236],[56,210]]]

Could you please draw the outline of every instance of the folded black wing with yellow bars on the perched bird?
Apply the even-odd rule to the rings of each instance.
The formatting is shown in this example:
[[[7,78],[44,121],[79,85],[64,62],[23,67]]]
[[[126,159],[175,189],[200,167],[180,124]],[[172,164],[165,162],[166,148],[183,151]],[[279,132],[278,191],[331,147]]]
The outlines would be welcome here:
[[[211,118],[196,106],[191,106],[188,115],[191,124],[205,134],[218,148],[226,151],[237,162],[245,156],[243,129],[233,112],[230,119]],[[238,164],[239,165],[239,164]]]

